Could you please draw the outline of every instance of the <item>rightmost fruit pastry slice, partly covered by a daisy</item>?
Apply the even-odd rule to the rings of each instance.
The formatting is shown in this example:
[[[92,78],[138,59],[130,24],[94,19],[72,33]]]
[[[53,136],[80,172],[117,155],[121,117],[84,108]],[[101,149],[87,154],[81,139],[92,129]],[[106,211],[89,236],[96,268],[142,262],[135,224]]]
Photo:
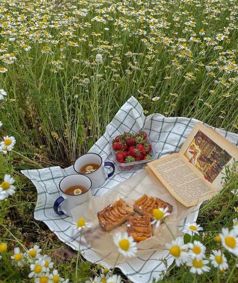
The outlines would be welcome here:
[[[146,194],[138,198],[133,204],[134,210],[139,215],[148,215],[150,219],[153,220],[153,209],[154,208],[166,208],[168,207],[168,213],[171,213],[173,206],[168,202],[163,201],[155,196],[147,196]]]

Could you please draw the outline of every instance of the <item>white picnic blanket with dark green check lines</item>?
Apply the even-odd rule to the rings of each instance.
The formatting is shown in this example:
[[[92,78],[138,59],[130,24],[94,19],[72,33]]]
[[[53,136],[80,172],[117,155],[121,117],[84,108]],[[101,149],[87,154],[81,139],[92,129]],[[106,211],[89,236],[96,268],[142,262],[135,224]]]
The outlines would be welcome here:
[[[124,131],[138,132],[144,130],[149,135],[154,147],[155,157],[161,158],[180,150],[196,122],[198,120],[193,118],[167,118],[157,113],[145,117],[142,106],[134,97],[131,97],[117,112],[111,123],[107,126],[104,135],[90,149],[90,152],[101,155],[104,161],[113,161],[110,138],[116,134],[122,134]],[[231,143],[236,146],[238,145],[238,134],[222,129],[217,129],[217,131]],[[139,173],[140,170],[121,172],[116,169],[115,174],[107,179],[102,187],[92,189],[92,194],[101,196],[112,189],[113,186]],[[78,250],[78,237],[75,237],[75,232],[73,232],[75,230],[72,228],[72,218],[68,216],[60,217],[53,210],[54,200],[60,195],[58,189],[59,181],[64,176],[75,173],[72,166],[65,169],[55,166],[21,172],[34,183],[37,189],[38,198],[34,210],[34,218],[43,221],[62,242],[74,250]],[[181,229],[184,224],[196,221],[198,210],[199,206],[195,207],[193,213],[185,218],[183,223],[181,223]],[[90,246],[81,245],[80,249],[87,260],[93,263],[101,263],[109,268],[112,267],[103,262]],[[162,259],[167,260],[167,267]],[[162,278],[163,271],[166,271],[172,263],[173,258],[165,248],[164,250],[150,251],[143,257],[128,258],[126,262],[118,264],[117,267],[133,282],[145,283],[152,282],[153,278],[156,280]]]

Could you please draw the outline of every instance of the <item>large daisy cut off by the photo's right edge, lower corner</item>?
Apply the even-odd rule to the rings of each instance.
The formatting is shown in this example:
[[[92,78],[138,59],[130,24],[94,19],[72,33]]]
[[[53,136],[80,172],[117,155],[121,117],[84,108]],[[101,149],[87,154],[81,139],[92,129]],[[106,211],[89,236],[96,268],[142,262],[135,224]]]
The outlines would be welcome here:
[[[219,236],[221,238],[222,246],[230,253],[238,256],[237,232],[234,229],[229,231],[228,228],[222,228]]]

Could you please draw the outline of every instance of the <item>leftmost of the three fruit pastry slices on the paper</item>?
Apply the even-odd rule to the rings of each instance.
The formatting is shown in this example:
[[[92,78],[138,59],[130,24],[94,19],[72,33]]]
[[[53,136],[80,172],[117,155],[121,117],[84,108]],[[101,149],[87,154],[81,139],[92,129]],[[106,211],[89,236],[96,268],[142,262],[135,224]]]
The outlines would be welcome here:
[[[112,230],[127,221],[128,216],[135,212],[123,199],[119,198],[114,204],[109,204],[98,212],[98,220],[106,230]]]

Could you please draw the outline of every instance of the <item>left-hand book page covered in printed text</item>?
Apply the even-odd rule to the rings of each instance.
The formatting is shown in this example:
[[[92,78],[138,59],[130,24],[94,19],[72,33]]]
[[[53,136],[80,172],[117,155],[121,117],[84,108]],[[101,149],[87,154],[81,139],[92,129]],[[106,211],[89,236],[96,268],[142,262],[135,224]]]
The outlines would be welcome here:
[[[185,206],[196,205],[215,194],[180,154],[172,154],[147,165],[169,192]]]

